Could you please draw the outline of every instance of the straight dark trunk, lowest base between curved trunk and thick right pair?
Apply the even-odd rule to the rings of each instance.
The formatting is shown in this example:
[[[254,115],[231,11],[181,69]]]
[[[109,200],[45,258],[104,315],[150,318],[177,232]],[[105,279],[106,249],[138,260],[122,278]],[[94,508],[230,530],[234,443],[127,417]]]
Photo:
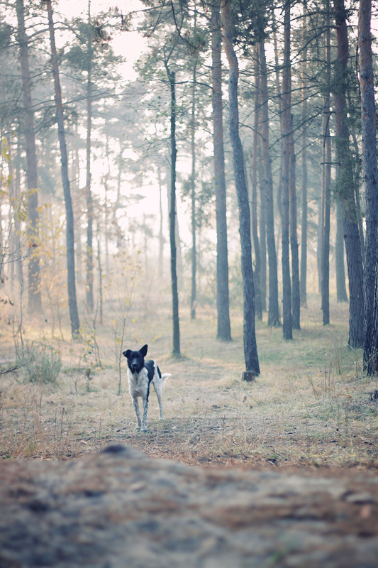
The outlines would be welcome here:
[[[290,226],[290,132],[291,132],[291,72],[290,72],[290,4],[284,13],[284,67],[282,71],[282,286],[284,339],[293,339],[291,320],[291,278],[289,254]]]

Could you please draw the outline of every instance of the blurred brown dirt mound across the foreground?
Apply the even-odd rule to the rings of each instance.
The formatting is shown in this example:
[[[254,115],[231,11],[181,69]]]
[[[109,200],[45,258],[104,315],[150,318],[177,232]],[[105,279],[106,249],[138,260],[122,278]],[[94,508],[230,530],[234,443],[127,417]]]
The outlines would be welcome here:
[[[378,478],[204,469],[130,447],[0,463],[1,567],[375,568]]]

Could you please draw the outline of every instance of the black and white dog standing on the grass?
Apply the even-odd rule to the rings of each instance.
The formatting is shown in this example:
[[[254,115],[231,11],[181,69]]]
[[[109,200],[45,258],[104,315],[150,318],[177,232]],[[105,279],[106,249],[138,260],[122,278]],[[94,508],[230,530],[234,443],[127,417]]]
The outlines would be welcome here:
[[[160,420],[162,420],[162,386],[165,380],[170,377],[170,373],[160,373],[160,368],[152,359],[145,360],[147,355],[147,345],[143,345],[139,351],[123,351],[123,355],[128,360],[128,391],[133,400],[133,406],[137,419],[137,430],[145,432],[147,430],[148,396],[150,395],[150,384],[155,388],[157,400],[160,408]],[[140,421],[138,397],[143,401],[143,418]]]

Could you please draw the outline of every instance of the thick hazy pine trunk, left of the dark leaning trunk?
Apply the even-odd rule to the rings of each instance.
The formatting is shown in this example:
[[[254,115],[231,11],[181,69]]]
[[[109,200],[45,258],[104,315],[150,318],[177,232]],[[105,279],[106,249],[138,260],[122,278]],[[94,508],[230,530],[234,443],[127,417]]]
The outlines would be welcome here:
[[[40,293],[40,259],[38,230],[38,172],[37,152],[35,150],[34,111],[31,94],[31,81],[28,58],[28,36],[25,28],[23,0],[16,0],[17,40],[21,64],[21,90],[24,109],[24,135],[26,142],[26,182],[28,185],[28,311],[42,310]]]

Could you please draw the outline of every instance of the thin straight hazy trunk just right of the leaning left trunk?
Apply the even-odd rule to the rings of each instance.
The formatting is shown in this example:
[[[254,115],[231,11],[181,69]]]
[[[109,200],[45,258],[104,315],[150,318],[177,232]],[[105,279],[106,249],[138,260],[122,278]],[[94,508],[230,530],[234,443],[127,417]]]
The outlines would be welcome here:
[[[87,36],[87,278],[86,299],[90,311],[94,309],[94,262],[93,262],[93,199],[91,194],[91,124],[92,124],[92,45],[91,45],[91,0],[88,0],[88,36]]]

